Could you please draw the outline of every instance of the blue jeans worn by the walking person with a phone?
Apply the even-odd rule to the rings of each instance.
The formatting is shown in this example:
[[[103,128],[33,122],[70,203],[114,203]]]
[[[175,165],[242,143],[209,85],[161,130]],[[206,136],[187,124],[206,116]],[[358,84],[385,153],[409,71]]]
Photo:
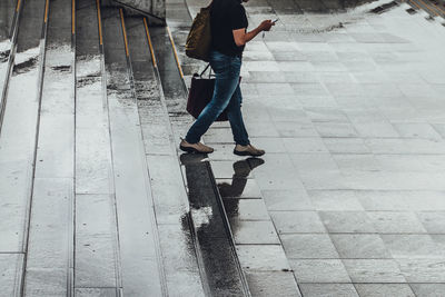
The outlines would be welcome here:
[[[210,66],[216,75],[214,97],[188,130],[186,141],[199,142],[210,125],[227,108],[227,117],[235,142],[247,146],[250,141],[243,120],[243,96],[239,88],[241,58],[226,56],[214,50],[210,52]]]

